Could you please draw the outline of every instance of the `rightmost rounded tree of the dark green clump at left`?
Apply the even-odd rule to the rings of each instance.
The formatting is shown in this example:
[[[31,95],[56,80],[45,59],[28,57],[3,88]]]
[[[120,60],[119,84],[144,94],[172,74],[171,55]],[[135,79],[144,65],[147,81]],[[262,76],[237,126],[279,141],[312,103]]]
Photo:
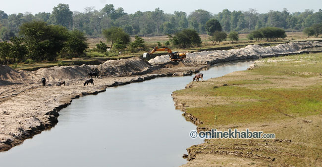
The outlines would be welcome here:
[[[79,57],[84,54],[88,44],[85,34],[79,30],[74,30],[69,32],[68,39],[64,42],[64,47],[62,48],[62,53],[67,54],[68,57]]]

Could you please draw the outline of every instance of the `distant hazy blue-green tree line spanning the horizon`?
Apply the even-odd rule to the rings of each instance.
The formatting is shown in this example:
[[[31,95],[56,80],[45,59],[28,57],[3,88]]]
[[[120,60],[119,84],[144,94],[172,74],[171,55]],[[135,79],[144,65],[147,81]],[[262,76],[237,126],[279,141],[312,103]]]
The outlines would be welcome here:
[[[104,29],[119,27],[129,35],[154,36],[175,34],[184,29],[193,29],[199,34],[207,33],[206,23],[216,19],[222,26],[222,31],[250,32],[263,27],[278,27],[289,30],[303,30],[322,22],[322,10],[314,12],[306,9],[304,12],[290,13],[270,10],[268,13],[258,13],[256,9],[248,11],[229,11],[213,14],[198,9],[189,15],[182,11],[173,14],[164,13],[160,8],[154,11],[137,11],[126,13],[123,8],[114,8],[113,4],[106,4],[102,9],[86,7],[83,12],[70,11],[68,4],[54,6],[51,13],[29,12],[6,14],[0,10],[0,37],[9,40],[19,33],[19,27],[33,20],[44,21],[49,25],[61,25],[68,30],[79,30],[89,36],[100,36]]]

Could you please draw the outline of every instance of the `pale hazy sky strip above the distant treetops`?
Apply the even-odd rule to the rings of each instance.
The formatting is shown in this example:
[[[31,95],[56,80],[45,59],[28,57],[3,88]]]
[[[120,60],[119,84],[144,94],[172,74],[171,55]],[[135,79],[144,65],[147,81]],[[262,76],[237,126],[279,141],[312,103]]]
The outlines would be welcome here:
[[[284,7],[289,12],[322,8],[322,0],[0,0],[0,10],[7,14],[31,12],[52,12],[58,3],[69,4],[71,11],[84,11],[84,7],[94,6],[99,10],[105,4],[113,4],[115,9],[123,7],[125,12],[134,13],[138,10],[151,11],[160,7],[165,13],[184,11],[187,14],[196,9],[205,9],[218,13],[222,9],[243,10],[256,8],[259,13],[269,10],[281,11]]]

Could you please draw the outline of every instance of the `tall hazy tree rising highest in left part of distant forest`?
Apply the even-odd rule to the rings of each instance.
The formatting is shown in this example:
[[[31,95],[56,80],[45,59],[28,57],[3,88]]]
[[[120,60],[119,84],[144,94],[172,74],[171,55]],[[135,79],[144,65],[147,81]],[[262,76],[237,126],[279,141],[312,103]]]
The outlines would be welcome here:
[[[71,28],[73,23],[73,12],[70,11],[68,4],[59,3],[53,8],[50,19],[54,25]]]

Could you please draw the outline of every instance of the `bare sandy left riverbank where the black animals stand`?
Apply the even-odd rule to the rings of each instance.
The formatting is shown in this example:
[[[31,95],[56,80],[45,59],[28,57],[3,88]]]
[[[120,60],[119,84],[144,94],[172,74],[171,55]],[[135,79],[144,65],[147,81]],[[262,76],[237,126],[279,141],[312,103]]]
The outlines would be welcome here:
[[[304,44],[307,47],[318,45],[322,46],[322,43]],[[305,52],[299,50],[304,46],[293,52],[276,51],[266,56]],[[109,86],[142,82],[156,77],[192,75],[199,69],[218,62],[259,56],[223,54],[211,61],[208,60],[209,57],[212,56],[195,56],[194,59],[198,61],[187,58],[183,62],[168,62],[157,66],[135,57],[109,60],[101,65],[42,68],[34,72],[14,71],[0,65],[0,151],[9,150],[26,138],[54,126],[59,116],[58,111],[69,105],[73,98],[97,94]],[[84,86],[84,80],[89,78],[87,73],[90,72],[97,72],[101,77],[94,79],[95,85]],[[41,86],[42,77],[47,78],[46,86]],[[57,86],[59,81],[65,81],[66,85]]]

